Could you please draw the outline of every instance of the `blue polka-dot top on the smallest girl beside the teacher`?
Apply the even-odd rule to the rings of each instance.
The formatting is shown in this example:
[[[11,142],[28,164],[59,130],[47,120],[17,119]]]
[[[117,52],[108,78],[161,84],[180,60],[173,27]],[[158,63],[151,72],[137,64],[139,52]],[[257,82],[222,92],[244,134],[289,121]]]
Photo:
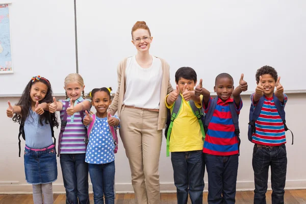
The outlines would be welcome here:
[[[113,117],[119,119],[117,116]],[[96,116],[93,122],[94,125],[89,135],[85,162],[89,164],[110,163],[115,160],[115,144],[107,117],[99,118]]]

